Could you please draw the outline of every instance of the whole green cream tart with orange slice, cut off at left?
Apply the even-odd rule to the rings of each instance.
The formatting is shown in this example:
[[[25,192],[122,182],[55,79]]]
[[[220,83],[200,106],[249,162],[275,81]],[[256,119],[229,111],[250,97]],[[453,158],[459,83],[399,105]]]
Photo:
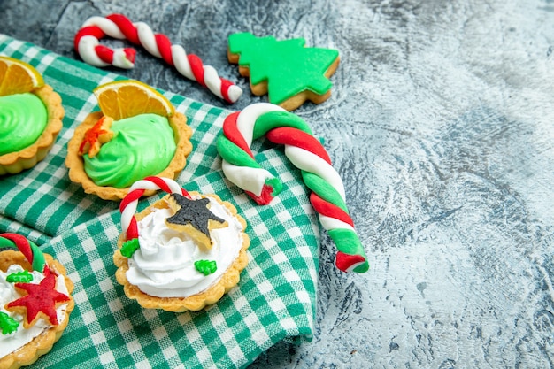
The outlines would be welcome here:
[[[32,65],[0,56],[0,175],[32,168],[62,128],[60,96]]]

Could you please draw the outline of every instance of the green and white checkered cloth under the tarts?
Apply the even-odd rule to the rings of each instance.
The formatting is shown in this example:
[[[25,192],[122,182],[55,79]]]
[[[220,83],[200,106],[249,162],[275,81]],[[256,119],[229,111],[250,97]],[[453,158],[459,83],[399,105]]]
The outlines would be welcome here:
[[[238,287],[204,311],[142,309],[114,277],[119,203],[86,195],[69,181],[64,165],[74,127],[98,109],[92,89],[121,77],[6,35],[0,35],[0,54],[34,65],[65,107],[64,128],[50,154],[33,169],[0,177],[0,232],[39,244],[75,284],[69,326],[32,367],[244,367],[283,339],[311,339],[319,225],[300,173],[281,148],[253,146],[258,162],[280,173],[285,185],[271,205],[254,204],[222,177],[215,141],[229,111],[162,91],[194,131],[193,152],[177,181],[235,204],[249,222],[250,261]]]

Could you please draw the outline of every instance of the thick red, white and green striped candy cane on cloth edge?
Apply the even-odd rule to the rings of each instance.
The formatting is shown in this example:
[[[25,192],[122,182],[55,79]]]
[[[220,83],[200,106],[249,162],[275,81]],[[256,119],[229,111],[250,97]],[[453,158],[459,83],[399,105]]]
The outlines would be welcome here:
[[[269,204],[281,191],[281,181],[258,165],[250,150],[252,140],[263,135],[284,144],[285,155],[302,171],[305,185],[312,190],[310,202],[339,250],[335,265],[343,272],[366,272],[369,264],[348,214],[341,177],[303,119],[267,103],[252,104],[229,115],[217,142],[227,179],[258,204]]]

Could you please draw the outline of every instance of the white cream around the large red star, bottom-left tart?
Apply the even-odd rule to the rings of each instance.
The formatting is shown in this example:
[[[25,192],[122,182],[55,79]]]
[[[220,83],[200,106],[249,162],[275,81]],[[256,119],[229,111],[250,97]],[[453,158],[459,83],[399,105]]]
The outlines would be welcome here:
[[[31,342],[39,334],[42,334],[46,329],[52,327],[50,322],[44,319],[38,319],[33,327],[25,329],[23,327],[24,316],[11,311],[5,310],[5,305],[11,303],[14,300],[17,300],[19,297],[23,296],[15,290],[15,283],[10,283],[6,281],[6,277],[12,273],[22,272],[23,268],[20,265],[10,265],[7,272],[0,271],[0,311],[5,312],[13,319],[19,321],[19,326],[15,332],[11,334],[2,334],[0,332],[0,358],[6,357],[11,354],[13,351],[20,349],[25,346],[28,342]],[[44,275],[39,272],[31,272],[33,275],[33,281],[30,283],[38,284],[44,279]],[[59,293],[69,296],[67,292],[67,287],[65,286],[65,279],[63,275],[58,275],[56,278],[56,290]],[[67,304],[60,304],[56,309],[58,315],[58,322],[62,322],[65,319],[65,310]]]

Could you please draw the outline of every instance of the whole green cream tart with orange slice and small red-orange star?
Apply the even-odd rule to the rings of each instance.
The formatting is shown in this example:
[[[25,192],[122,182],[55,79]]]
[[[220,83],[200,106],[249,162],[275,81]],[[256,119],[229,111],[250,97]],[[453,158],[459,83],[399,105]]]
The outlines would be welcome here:
[[[69,177],[86,193],[119,200],[152,175],[175,178],[192,150],[186,117],[138,81],[96,88],[101,111],[90,113],[68,143]],[[150,191],[145,194],[150,196]]]

